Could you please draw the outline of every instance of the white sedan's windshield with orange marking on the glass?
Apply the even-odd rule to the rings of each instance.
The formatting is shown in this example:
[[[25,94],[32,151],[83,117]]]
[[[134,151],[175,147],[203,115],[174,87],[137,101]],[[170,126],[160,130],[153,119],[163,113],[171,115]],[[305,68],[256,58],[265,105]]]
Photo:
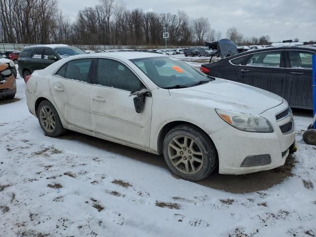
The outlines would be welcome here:
[[[137,58],[130,61],[162,88],[188,87],[203,80],[211,80],[205,74],[173,57]]]

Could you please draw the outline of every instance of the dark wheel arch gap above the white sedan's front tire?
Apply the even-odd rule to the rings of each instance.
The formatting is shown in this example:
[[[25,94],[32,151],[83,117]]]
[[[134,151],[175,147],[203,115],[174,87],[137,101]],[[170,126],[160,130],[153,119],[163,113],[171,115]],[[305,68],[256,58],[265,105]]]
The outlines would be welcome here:
[[[191,127],[196,128],[197,130],[199,130],[200,132],[204,133],[205,135],[208,136],[207,132],[205,132],[201,127],[197,126],[196,124],[189,122],[189,121],[183,121],[183,120],[175,120],[175,121],[170,121],[168,123],[166,123],[165,125],[163,125],[163,127],[160,129],[159,134],[158,134],[158,140],[157,140],[157,151],[158,154],[162,154],[162,144],[163,144],[163,140],[166,136],[166,134],[174,127],[179,126],[179,125],[189,125]],[[209,136],[208,136],[209,137]],[[212,141],[212,139],[209,137],[210,141],[213,143],[215,149],[216,146],[214,144],[214,142]],[[217,153],[217,149],[216,149],[216,153]]]

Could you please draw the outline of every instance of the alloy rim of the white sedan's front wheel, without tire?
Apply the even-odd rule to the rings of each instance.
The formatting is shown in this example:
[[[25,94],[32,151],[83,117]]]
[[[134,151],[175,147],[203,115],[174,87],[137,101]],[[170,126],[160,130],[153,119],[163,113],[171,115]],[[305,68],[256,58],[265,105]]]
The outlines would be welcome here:
[[[173,137],[168,144],[168,157],[172,165],[183,174],[197,174],[204,163],[200,146],[187,135]]]

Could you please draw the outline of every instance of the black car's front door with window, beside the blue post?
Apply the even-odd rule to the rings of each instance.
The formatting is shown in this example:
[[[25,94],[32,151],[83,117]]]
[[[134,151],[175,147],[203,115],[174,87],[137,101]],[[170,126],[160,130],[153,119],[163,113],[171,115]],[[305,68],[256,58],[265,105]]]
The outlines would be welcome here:
[[[312,55],[315,52],[286,50],[286,78],[292,107],[313,109]]]

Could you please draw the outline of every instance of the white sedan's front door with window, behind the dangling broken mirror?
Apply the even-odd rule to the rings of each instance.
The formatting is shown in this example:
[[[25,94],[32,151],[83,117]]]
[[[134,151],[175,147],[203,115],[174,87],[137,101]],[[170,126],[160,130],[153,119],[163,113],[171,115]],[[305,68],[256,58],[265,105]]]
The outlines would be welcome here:
[[[93,131],[134,145],[149,147],[152,98],[145,98],[145,109],[136,113],[131,91],[143,84],[123,63],[100,58],[90,89]]]

